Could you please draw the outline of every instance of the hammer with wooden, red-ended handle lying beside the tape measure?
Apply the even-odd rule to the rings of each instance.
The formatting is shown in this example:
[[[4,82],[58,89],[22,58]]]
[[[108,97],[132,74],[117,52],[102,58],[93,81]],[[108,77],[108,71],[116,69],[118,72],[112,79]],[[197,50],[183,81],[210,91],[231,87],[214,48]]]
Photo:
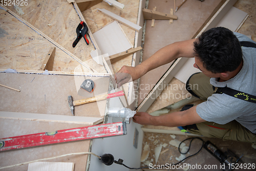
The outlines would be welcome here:
[[[111,94],[103,94],[100,96],[90,97],[87,99],[81,99],[81,100],[76,100],[76,101],[73,101],[72,96],[68,96],[68,102],[69,102],[69,107],[70,107],[71,113],[75,116],[74,106],[76,106],[76,105],[91,103],[91,102],[95,102],[95,101],[101,101],[101,100],[105,100],[105,99],[109,99],[109,98],[113,98],[113,97],[119,97],[119,96],[124,96],[123,91],[115,92],[115,93],[111,93]]]

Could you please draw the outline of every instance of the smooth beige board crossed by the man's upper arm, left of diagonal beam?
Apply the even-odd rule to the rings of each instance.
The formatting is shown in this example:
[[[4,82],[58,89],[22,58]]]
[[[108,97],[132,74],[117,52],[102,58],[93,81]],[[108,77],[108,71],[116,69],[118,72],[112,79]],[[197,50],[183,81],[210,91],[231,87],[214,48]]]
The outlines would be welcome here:
[[[204,1],[201,4],[200,1],[186,1],[174,13],[174,15],[178,16],[178,19],[174,20],[172,24],[169,24],[169,20],[156,20],[155,27],[151,27],[151,22],[147,22],[142,61],[168,44],[191,39],[220,2],[221,0]],[[182,0],[176,0],[176,6],[181,3]],[[157,11],[169,13],[170,8],[174,9],[174,1],[150,0],[148,9],[153,9],[154,7],[157,7]],[[152,87],[154,87],[161,76],[168,70],[170,64],[168,63],[152,70],[141,77],[138,104],[141,103],[144,97],[151,91]]]

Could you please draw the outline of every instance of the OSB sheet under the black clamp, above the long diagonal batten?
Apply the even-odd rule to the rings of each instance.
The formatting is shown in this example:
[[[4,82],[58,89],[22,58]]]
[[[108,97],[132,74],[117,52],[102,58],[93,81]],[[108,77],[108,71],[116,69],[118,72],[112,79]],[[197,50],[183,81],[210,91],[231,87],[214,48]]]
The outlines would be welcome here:
[[[13,6],[7,7],[97,72],[106,72],[104,67],[98,65],[90,56],[90,52],[95,50],[90,39],[89,46],[81,39],[75,48],[72,47],[77,37],[76,28],[80,23],[72,4],[61,0],[28,0],[27,6],[19,6],[24,12],[23,15],[20,15]]]

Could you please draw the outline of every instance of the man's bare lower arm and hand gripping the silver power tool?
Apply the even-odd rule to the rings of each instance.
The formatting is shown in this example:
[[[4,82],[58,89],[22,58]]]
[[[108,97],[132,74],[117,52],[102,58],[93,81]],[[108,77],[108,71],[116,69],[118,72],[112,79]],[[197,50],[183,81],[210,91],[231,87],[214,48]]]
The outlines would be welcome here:
[[[185,126],[194,123],[205,122],[197,114],[197,106],[194,106],[186,111],[174,112],[166,115],[161,116],[152,116],[145,112],[138,112],[134,115],[133,120],[136,123],[142,125],[155,125],[155,126]]]

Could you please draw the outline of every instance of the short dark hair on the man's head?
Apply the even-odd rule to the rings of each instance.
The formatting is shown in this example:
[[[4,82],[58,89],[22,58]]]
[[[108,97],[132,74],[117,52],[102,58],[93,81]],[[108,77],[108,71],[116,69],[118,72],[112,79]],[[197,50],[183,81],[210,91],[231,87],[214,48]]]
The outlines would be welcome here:
[[[237,36],[224,27],[203,32],[194,41],[194,52],[203,62],[204,68],[212,73],[234,71],[243,59]]]

